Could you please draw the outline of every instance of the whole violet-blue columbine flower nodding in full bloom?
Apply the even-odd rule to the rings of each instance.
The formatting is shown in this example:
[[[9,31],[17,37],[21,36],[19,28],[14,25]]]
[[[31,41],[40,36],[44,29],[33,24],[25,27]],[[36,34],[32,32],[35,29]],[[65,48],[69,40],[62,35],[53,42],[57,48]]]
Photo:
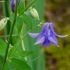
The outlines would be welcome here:
[[[32,38],[38,38],[35,44],[43,44],[43,46],[48,47],[50,46],[50,42],[52,42],[53,44],[59,47],[56,36],[64,38],[68,35],[57,35],[54,32],[53,24],[47,22],[43,25],[42,31],[40,33],[29,33],[29,36]]]

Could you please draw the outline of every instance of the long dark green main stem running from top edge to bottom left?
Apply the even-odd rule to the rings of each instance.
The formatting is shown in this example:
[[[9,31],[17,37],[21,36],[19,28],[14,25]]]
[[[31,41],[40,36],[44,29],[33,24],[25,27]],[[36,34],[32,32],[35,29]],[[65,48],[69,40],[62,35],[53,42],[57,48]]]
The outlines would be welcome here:
[[[8,54],[8,50],[9,50],[9,44],[10,44],[10,41],[11,41],[12,32],[13,32],[14,25],[15,25],[15,22],[16,22],[17,6],[18,6],[18,0],[16,0],[15,16],[14,16],[13,24],[12,24],[12,27],[11,27],[11,30],[10,30],[10,34],[9,34],[9,39],[8,39],[8,44],[7,44],[7,48],[6,48],[6,53],[5,53],[5,58],[4,58],[4,63],[3,63],[3,66],[2,66],[2,70],[4,69],[4,65],[5,65],[5,62],[6,62],[6,59],[7,59],[7,54]]]

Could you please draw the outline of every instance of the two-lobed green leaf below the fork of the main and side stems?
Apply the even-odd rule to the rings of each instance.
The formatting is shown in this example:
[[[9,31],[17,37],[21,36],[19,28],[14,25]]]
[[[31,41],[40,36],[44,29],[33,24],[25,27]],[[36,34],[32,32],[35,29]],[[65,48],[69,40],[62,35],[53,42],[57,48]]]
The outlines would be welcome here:
[[[23,23],[25,23],[30,29],[32,29],[32,21],[30,17],[28,17],[26,14],[23,14],[22,16],[19,16],[16,19],[16,27],[17,27],[18,33],[21,31],[23,27]]]

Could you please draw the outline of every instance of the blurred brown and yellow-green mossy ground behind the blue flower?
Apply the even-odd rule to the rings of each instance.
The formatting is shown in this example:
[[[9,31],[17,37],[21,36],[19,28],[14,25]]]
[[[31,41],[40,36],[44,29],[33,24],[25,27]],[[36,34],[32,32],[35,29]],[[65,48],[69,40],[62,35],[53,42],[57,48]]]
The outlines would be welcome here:
[[[0,18],[2,13],[0,3]],[[46,0],[44,19],[54,23],[57,34],[68,34],[66,38],[58,38],[59,48],[52,44],[45,48],[45,70],[70,70],[70,0]],[[0,35],[4,35],[4,31]]]

